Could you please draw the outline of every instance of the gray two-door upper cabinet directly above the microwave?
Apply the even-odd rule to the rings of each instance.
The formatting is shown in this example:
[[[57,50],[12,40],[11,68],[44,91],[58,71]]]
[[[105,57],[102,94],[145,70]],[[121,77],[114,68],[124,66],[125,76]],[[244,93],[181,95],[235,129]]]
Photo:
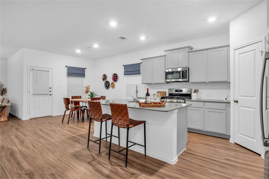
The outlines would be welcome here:
[[[187,46],[165,50],[166,52],[165,69],[188,67],[189,66],[188,52],[192,49],[193,47]]]

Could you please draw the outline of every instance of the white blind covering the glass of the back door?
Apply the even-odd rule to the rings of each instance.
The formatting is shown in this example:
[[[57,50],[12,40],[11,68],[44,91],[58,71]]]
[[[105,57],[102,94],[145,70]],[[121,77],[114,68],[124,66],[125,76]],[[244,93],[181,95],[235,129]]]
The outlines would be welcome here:
[[[50,93],[50,71],[33,70],[33,94]]]

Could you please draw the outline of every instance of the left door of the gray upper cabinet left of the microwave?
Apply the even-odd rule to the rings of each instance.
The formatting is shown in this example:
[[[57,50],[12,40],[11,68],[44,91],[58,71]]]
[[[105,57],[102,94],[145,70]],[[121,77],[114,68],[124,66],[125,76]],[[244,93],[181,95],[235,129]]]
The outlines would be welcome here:
[[[142,60],[142,83],[152,83],[152,59]]]

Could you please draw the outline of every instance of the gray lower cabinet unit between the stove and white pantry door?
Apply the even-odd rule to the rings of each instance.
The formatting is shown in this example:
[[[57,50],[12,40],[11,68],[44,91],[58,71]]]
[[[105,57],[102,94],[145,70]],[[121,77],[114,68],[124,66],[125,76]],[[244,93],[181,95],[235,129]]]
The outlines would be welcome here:
[[[194,102],[187,107],[188,131],[230,137],[230,103]]]

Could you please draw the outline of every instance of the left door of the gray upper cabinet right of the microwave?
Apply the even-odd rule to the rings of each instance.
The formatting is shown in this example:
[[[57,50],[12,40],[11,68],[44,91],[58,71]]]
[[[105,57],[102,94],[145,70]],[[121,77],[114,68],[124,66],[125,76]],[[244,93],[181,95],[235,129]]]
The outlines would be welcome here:
[[[207,51],[190,53],[190,82],[206,82],[207,55]]]

